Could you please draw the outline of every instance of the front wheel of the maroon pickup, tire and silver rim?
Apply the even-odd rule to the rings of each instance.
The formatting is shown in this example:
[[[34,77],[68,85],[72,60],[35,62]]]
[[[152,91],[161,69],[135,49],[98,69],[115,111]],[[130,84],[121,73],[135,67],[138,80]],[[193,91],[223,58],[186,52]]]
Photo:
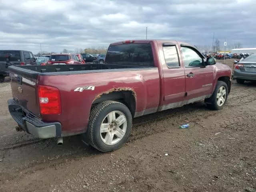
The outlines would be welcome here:
[[[222,88],[222,90],[220,90],[220,88]],[[225,95],[222,95],[222,94],[224,94],[224,89],[225,89]],[[221,100],[219,100],[217,96]],[[220,98],[220,96],[222,98]],[[226,104],[227,99],[228,99],[228,86],[225,82],[218,81],[212,96],[210,98],[206,99],[205,102],[206,102],[208,108],[213,109],[213,110],[221,110],[224,107],[224,105]]]

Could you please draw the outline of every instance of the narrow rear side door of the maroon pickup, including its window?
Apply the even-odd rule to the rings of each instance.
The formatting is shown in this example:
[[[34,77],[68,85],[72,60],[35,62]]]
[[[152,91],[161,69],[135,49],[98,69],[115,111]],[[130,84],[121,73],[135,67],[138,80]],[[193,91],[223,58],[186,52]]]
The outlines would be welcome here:
[[[162,110],[182,106],[185,98],[185,72],[180,64],[177,47],[177,44],[172,43],[164,43],[162,46],[165,61],[162,61],[164,73],[164,103]]]

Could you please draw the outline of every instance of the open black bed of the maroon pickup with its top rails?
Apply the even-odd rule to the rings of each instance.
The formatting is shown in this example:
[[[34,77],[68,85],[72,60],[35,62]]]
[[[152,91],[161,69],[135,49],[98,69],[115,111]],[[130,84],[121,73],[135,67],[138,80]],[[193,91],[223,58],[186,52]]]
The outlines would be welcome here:
[[[26,66],[10,66],[10,71],[25,75],[26,77],[36,78],[38,75],[68,75],[68,74],[84,74],[97,72],[112,72],[126,70],[140,70],[155,67],[129,66],[116,64],[70,64],[70,65],[26,65]]]

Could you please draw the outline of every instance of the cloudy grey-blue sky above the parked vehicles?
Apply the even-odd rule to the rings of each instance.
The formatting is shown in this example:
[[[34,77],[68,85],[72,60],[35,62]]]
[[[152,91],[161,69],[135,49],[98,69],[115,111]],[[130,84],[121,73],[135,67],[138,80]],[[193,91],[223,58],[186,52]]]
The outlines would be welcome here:
[[[256,0],[0,0],[0,50],[61,52],[123,40],[256,48]]]

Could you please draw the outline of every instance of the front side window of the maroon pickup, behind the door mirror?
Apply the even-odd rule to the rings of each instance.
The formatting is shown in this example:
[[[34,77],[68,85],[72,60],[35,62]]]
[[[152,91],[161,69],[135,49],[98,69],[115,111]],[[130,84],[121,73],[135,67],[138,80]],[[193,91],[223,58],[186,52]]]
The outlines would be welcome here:
[[[182,58],[183,58],[185,67],[204,66],[203,59],[192,48],[182,46],[181,50],[182,50]]]

